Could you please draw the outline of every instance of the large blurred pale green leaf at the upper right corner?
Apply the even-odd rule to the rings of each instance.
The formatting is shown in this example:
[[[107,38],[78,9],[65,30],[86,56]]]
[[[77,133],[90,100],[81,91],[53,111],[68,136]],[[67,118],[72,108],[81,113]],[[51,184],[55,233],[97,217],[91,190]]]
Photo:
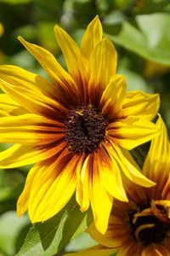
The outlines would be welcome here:
[[[152,14],[137,15],[136,22],[139,29],[129,22],[122,22],[114,34],[114,26],[105,26],[107,36],[116,44],[130,49],[145,59],[170,65],[170,15]]]

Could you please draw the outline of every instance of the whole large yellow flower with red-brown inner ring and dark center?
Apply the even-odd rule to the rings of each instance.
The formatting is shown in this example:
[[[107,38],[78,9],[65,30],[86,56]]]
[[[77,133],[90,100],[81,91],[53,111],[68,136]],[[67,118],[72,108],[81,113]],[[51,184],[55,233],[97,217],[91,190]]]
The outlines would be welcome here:
[[[159,96],[126,91],[126,79],[116,74],[116,49],[102,38],[98,16],[81,48],[59,26],[54,32],[68,73],[47,49],[21,37],[51,80],[20,67],[0,67],[0,143],[14,143],[0,153],[0,168],[35,164],[17,203],[18,216],[28,209],[32,223],[45,221],[76,191],[82,212],[91,204],[96,227],[105,233],[113,197],[127,201],[122,172],[144,187],[155,184],[127,149],[158,134],[150,120]]]

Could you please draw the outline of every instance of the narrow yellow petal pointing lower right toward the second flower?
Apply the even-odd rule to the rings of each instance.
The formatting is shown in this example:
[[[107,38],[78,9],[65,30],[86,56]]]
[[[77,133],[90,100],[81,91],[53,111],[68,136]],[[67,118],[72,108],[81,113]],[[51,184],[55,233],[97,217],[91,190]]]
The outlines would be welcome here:
[[[156,183],[150,181],[147,177],[140,172],[139,167],[134,163],[131,154],[127,150],[123,150],[116,146],[116,144],[111,143],[113,150],[110,150],[111,156],[116,160],[117,164],[121,167],[122,172],[131,180],[133,183],[139,184],[143,187],[152,187]],[[107,146],[109,148],[109,146]]]

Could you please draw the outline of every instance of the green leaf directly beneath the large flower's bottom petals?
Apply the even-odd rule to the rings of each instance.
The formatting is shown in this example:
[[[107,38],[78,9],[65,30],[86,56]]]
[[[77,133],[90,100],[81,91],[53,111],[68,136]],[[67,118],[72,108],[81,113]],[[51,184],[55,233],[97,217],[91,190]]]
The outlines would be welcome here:
[[[34,224],[17,256],[51,256],[62,251],[92,222],[92,212],[81,212],[74,198],[44,223]]]

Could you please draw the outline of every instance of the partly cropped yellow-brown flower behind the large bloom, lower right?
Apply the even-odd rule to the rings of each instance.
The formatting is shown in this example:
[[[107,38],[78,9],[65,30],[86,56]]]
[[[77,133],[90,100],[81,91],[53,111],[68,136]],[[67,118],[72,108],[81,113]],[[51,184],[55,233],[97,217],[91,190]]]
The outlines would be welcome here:
[[[170,255],[170,143],[161,117],[156,124],[161,134],[151,142],[143,167],[143,174],[156,186],[146,189],[129,184],[129,201],[114,201],[105,235],[94,224],[88,230],[99,245],[68,255]]]

